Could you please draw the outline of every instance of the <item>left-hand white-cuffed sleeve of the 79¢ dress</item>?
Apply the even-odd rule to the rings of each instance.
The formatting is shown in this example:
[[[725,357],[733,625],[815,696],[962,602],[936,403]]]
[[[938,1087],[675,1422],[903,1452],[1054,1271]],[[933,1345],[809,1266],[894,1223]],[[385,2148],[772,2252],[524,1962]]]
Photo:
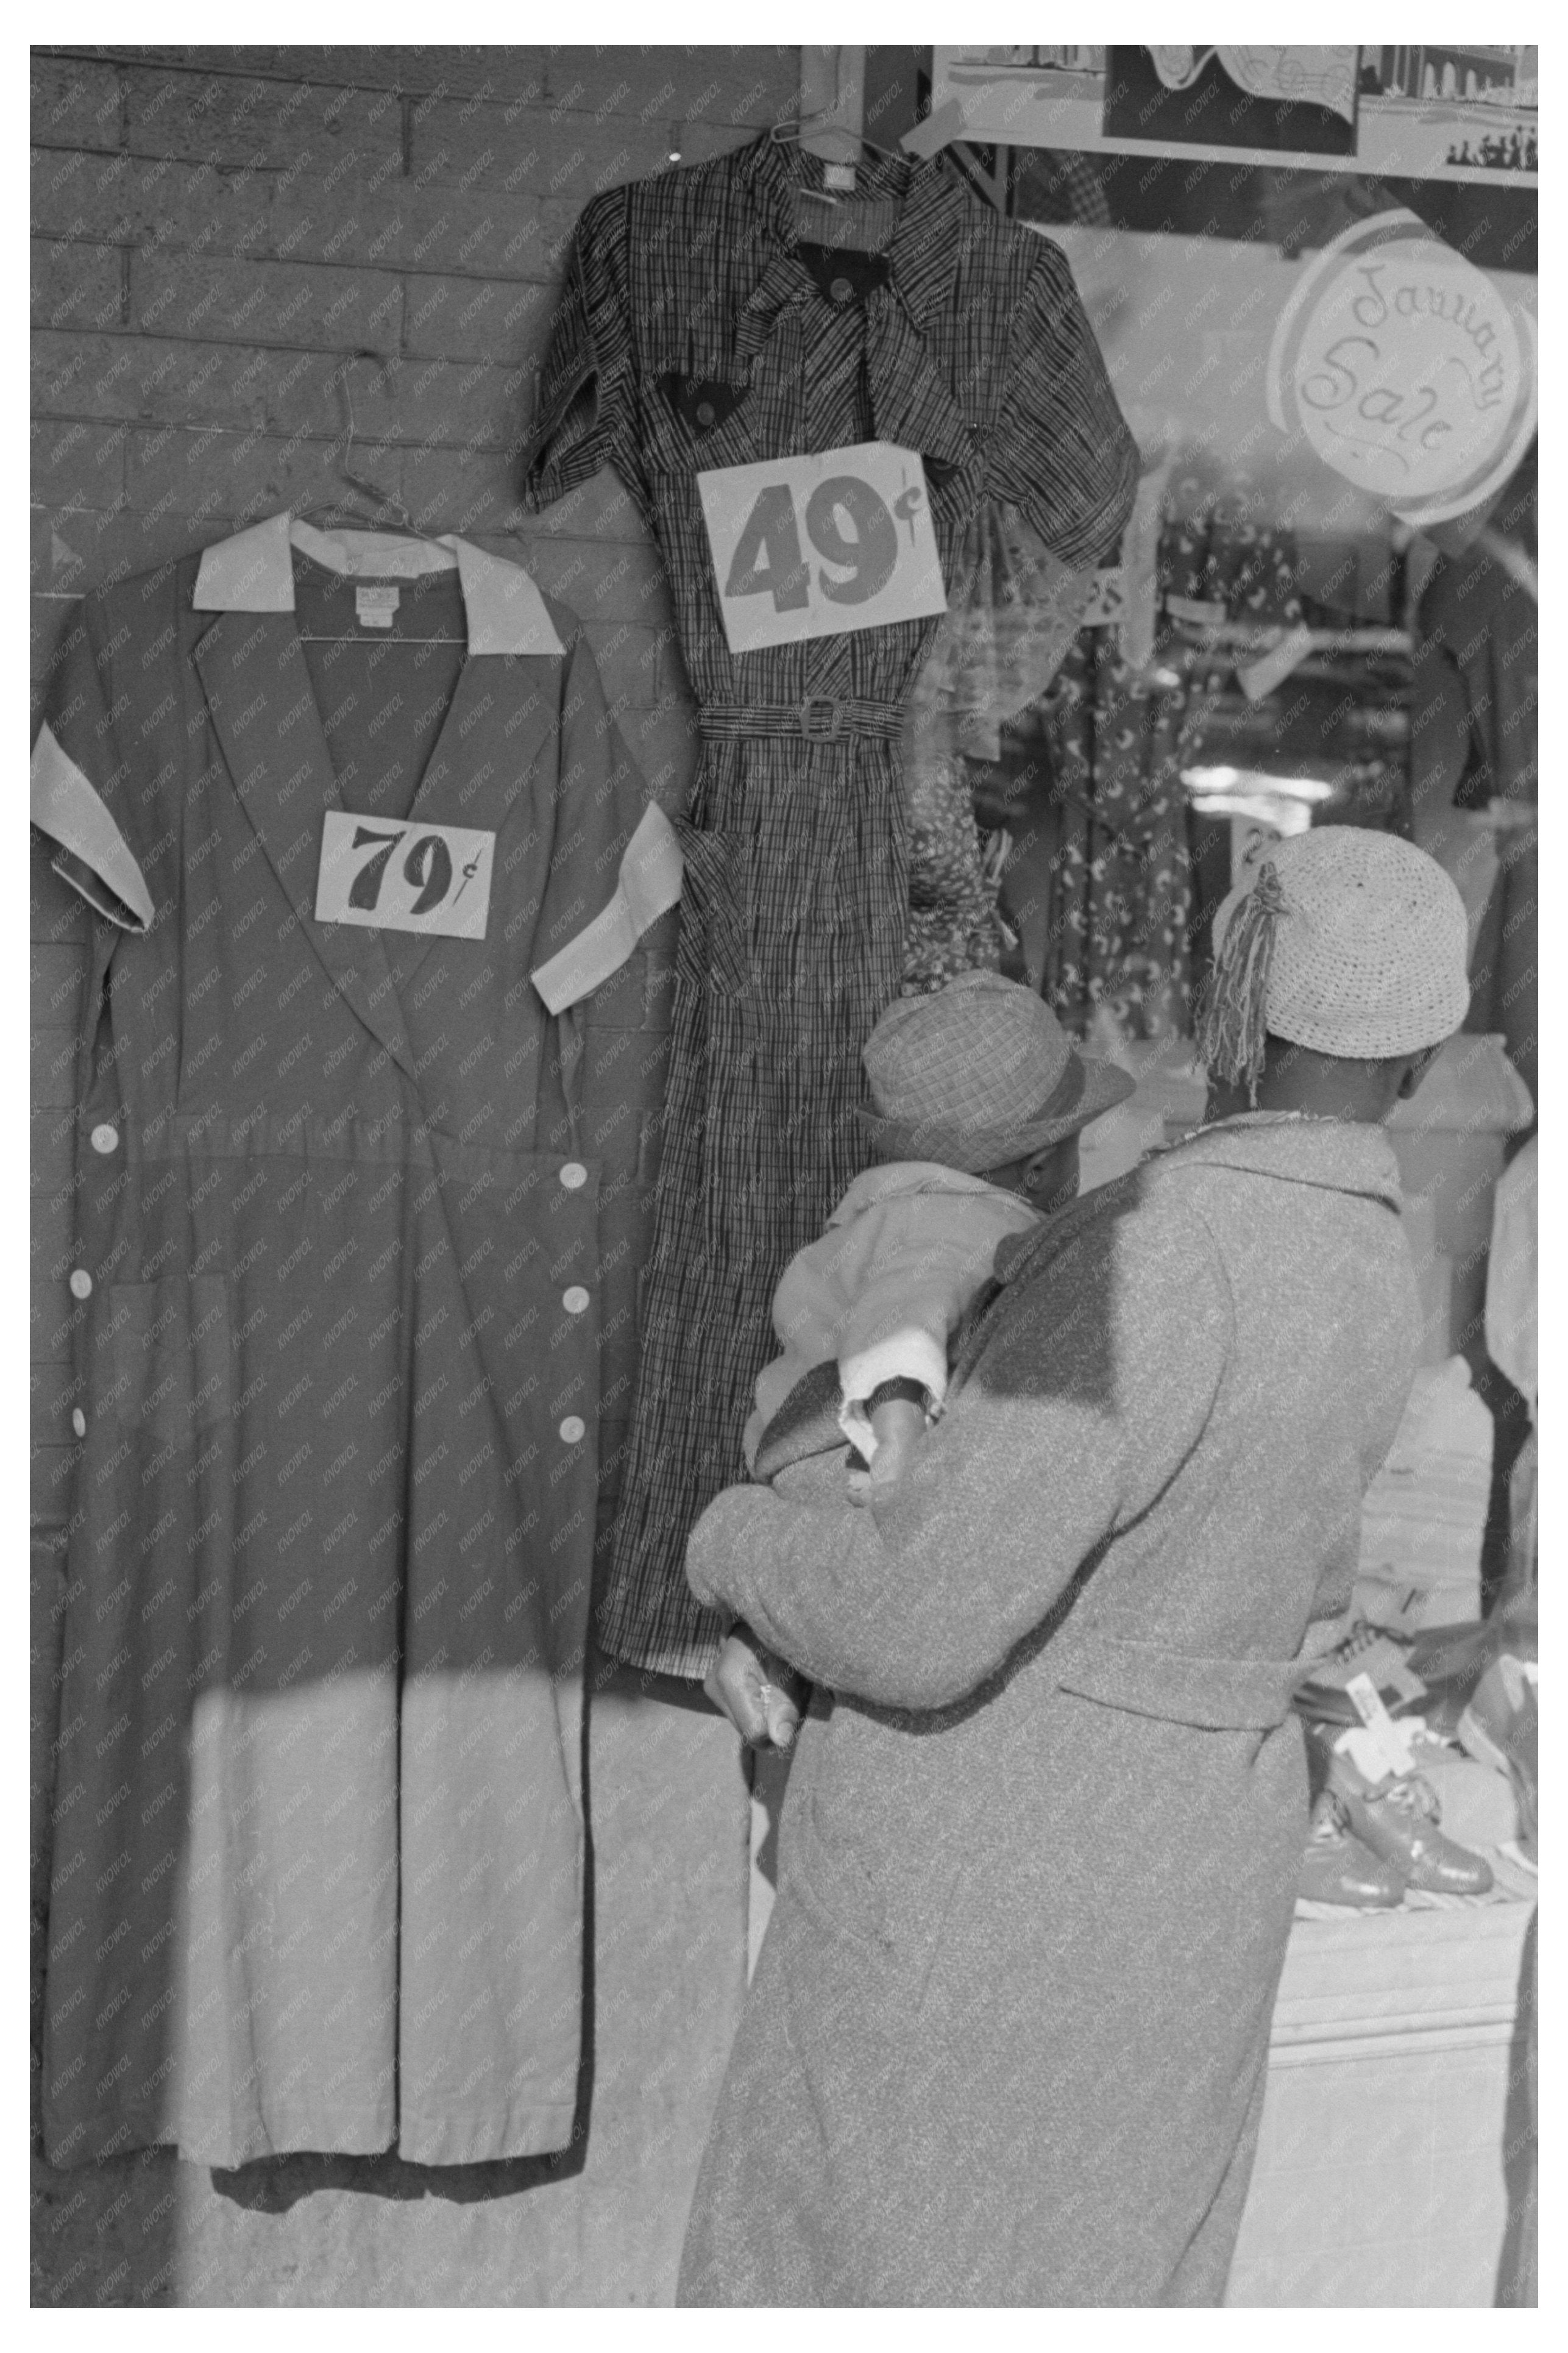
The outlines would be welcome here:
[[[146,932],[155,918],[148,873],[158,864],[148,833],[158,828],[148,824],[146,791],[132,781],[129,704],[129,689],[115,692],[101,598],[89,595],[49,673],[31,762],[31,816],[54,847],[61,880],[122,932]]]

